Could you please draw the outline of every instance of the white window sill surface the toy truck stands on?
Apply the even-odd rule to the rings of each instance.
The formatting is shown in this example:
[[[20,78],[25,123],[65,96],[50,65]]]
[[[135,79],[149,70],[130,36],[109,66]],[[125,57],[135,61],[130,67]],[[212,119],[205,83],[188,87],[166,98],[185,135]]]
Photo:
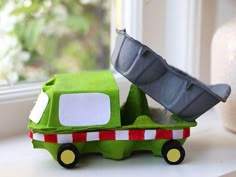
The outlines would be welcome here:
[[[184,148],[182,164],[170,166],[151,153],[138,153],[121,161],[100,155],[81,159],[79,167],[65,170],[45,150],[34,150],[27,134],[0,141],[0,166],[5,176],[220,176],[235,170],[235,135],[226,131],[213,111],[198,119]],[[217,138],[215,138],[217,137]],[[15,148],[17,147],[17,151]],[[20,153],[19,153],[20,152]],[[87,158],[86,158],[87,157]],[[197,172],[197,173],[196,173]],[[62,175],[63,174],[63,175]]]

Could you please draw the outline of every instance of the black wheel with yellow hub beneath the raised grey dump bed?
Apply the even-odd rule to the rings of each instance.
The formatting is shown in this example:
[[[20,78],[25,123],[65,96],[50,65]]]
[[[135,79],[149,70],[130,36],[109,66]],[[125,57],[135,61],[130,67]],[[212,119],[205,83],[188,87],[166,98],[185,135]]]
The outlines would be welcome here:
[[[185,157],[185,150],[177,140],[167,141],[161,150],[165,161],[170,165],[180,164]]]

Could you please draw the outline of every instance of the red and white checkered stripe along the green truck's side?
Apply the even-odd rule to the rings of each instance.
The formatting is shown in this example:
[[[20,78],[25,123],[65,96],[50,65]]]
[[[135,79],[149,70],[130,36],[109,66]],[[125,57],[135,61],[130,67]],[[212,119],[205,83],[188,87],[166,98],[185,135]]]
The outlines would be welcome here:
[[[106,130],[98,132],[77,132],[72,134],[40,134],[30,131],[33,140],[50,143],[76,143],[103,140],[155,140],[185,139],[190,136],[190,128],[181,130]]]

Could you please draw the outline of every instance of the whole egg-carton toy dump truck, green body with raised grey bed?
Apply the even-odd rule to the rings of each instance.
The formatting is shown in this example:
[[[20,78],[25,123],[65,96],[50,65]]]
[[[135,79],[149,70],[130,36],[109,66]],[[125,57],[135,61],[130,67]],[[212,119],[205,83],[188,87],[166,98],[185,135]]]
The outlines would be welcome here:
[[[123,105],[110,71],[59,74],[47,81],[29,116],[34,148],[48,150],[65,168],[75,167],[81,154],[100,153],[105,158],[120,160],[140,150],[162,156],[169,164],[181,163],[185,157],[182,145],[190,136],[190,127],[196,126],[195,119],[206,111],[201,105],[194,108],[192,101],[203,95],[205,102],[196,103],[209,109],[217,101],[227,99],[230,87],[205,88],[160,58],[155,61],[153,52],[150,58],[154,62],[146,65],[150,60],[147,57],[140,63],[140,56],[150,56],[146,51],[125,31],[119,33],[112,63],[134,84]],[[150,110],[145,93],[174,114]],[[213,98],[205,97],[208,93]]]

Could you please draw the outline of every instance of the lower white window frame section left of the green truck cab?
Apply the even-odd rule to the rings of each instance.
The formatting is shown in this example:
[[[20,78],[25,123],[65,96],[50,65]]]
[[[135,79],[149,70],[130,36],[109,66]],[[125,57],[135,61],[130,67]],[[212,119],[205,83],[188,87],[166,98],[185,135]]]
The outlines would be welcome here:
[[[41,84],[0,87],[0,139],[27,132],[28,116]]]

